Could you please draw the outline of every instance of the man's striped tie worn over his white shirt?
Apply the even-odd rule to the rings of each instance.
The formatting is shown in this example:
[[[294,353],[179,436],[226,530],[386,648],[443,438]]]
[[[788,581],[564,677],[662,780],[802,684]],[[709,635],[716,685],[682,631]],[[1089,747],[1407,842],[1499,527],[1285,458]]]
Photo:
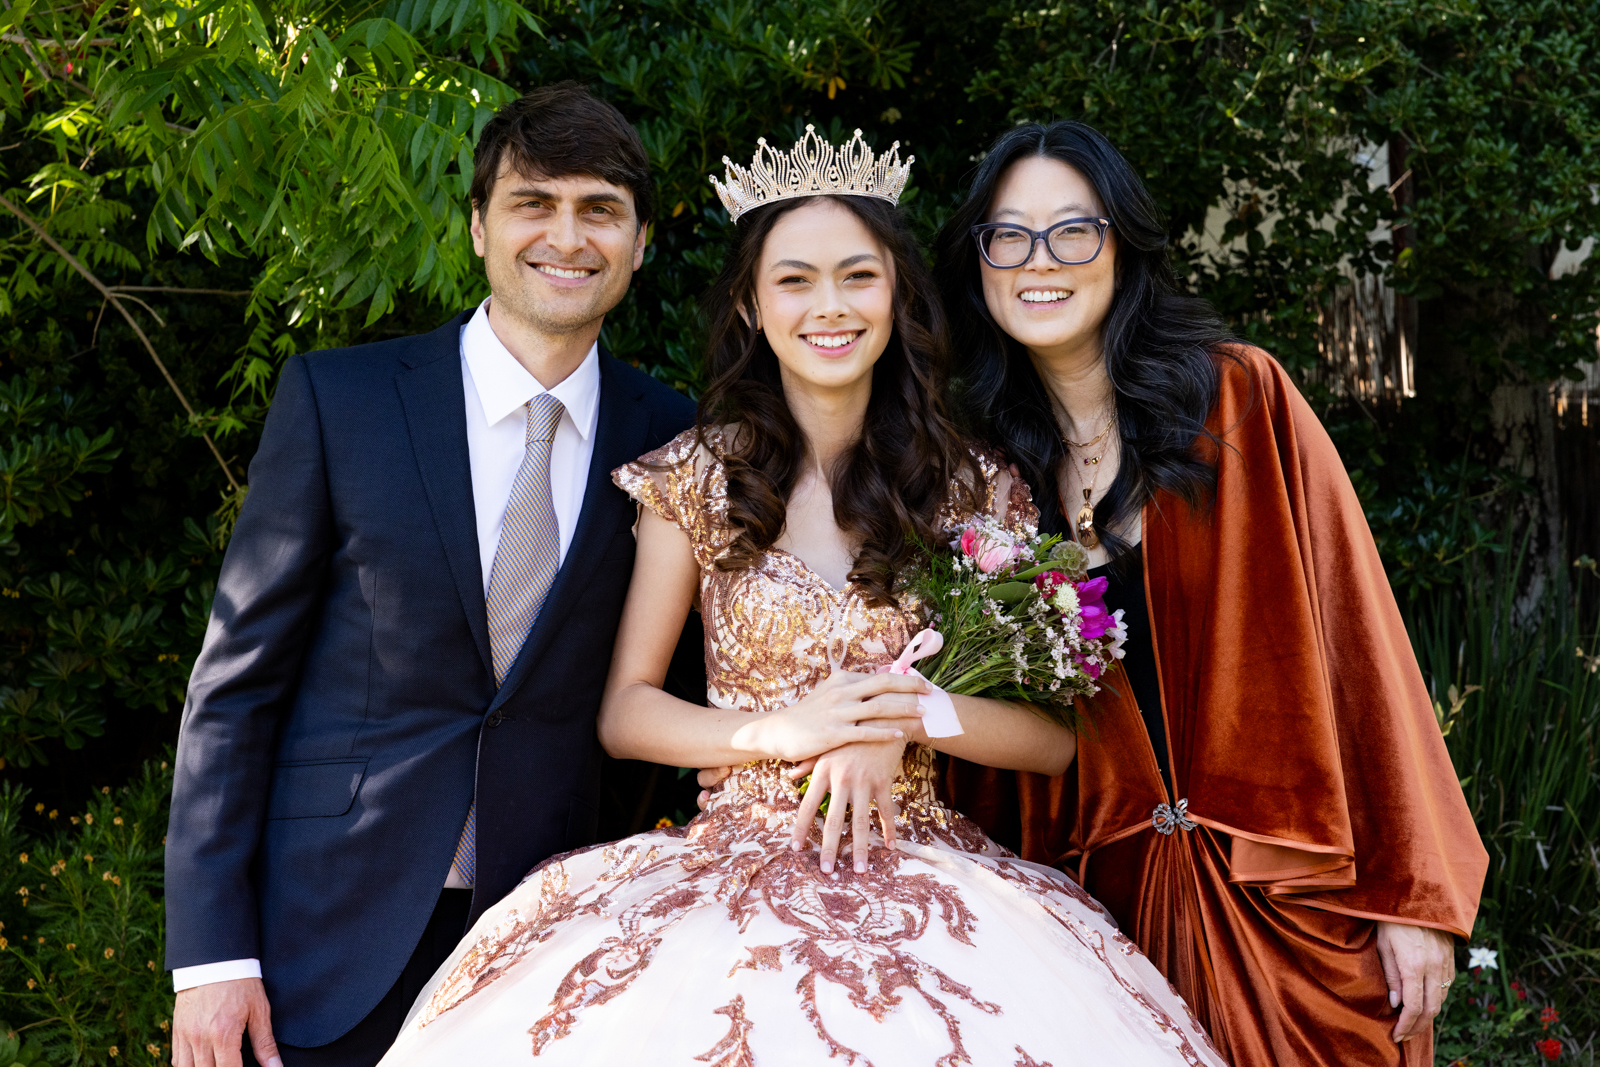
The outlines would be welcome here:
[[[562,565],[562,531],[555,522],[555,504],[550,502],[550,442],[555,440],[555,424],[562,421],[563,408],[550,394],[534,397],[523,408],[528,411],[528,451],[523,453],[510,499],[506,501],[486,598],[496,686],[506,681]],[[461,885],[469,888],[477,880],[477,813],[474,801],[467,809],[467,825],[461,830],[453,864]]]

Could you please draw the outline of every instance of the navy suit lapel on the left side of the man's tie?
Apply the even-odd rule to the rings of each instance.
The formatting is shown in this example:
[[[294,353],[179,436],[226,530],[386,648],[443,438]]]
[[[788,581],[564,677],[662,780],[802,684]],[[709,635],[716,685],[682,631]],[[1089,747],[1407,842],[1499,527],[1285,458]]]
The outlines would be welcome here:
[[[445,560],[461,595],[472,640],[493,677],[488,613],[483,606],[483,565],[478,560],[477,512],[472,507],[472,456],[467,451],[467,397],[461,381],[461,326],[458,315],[422,339],[410,370],[395,376],[405,408],[411,451],[434,512]]]

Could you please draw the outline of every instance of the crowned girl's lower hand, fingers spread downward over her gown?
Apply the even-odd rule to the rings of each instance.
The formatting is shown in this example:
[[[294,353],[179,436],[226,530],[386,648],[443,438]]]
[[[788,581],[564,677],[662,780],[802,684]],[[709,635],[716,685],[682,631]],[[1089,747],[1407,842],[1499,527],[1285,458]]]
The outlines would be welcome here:
[[[800,800],[795,813],[795,825],[789,840],[789,848],[800,851],[811,833],[811,824],[822,806],[822,798],[834,795],[827,801],[827,819],[822,822],[822,872],[832,873],[834,859],[838,856],[838,838],[845,832],[845,809],[850,809],[850,854],[856,864],[856,873],[867,869],[867,854],[872,848],[872,803],[878,805],[878,821],[883,829],[883,846],[894,848],[894,776],[899,774],[901,757],[906,752],[906,737],[896,741],[870,741],[835,749],[814,760],[805,760],[789,771],[790,777],[811,774],[811,785]]]

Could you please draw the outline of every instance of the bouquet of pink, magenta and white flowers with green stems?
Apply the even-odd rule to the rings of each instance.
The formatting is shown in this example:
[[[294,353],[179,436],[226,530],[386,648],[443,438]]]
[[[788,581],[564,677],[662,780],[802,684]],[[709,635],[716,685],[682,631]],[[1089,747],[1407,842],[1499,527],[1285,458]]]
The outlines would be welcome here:
[[[946,693],[1034,704],[1072,725],[1075,699],[1099,691],[1128,640],[1122,611],[1106,608],[1107,581],[1088,577],[1088,552],[1054,534],[989,520],[952,533],[949,552],[925,552],[906,577],[930,629],[890,670],[922,661],[918,673]]]

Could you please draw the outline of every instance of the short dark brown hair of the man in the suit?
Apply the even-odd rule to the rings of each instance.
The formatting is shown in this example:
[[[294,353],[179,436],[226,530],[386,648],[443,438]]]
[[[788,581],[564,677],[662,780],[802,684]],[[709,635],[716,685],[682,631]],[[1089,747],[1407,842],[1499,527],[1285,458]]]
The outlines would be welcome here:
[[[645,142],[622,112],[576,82],[544,85],[494,112],[472,162],[472,206],[488,203],[501,160],[530,178],[584,174],[622,186],[634,194],[638,224],[654,218]]]

